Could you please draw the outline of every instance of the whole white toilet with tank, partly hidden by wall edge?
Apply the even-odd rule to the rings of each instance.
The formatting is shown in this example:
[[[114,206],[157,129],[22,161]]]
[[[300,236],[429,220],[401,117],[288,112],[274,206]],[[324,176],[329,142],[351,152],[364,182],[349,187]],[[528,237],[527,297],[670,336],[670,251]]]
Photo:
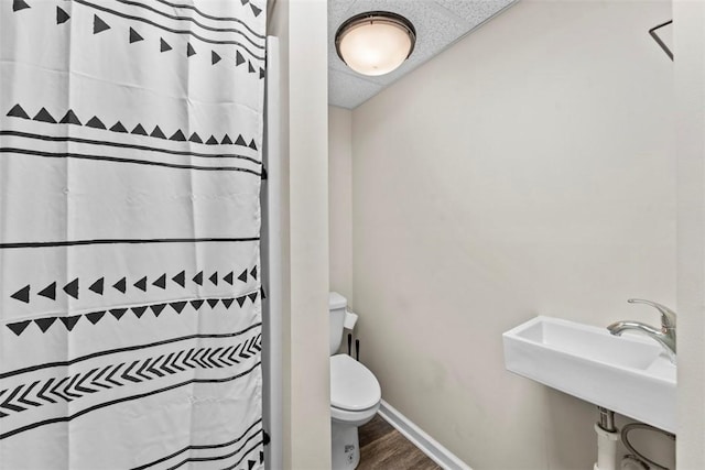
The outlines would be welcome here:
[[[360,461],[357,428],[375,417],[382,392],[372,372],[348,354],[336,354],[344,329],[352,329],[357,315],[347,299],[332,292],[330,310],[330,427],[333,470],[354,469]]]

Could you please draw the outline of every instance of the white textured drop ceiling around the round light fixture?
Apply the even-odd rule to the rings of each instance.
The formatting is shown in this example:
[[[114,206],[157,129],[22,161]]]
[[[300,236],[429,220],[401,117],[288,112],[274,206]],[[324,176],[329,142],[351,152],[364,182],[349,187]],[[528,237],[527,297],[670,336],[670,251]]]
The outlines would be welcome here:
[[[517,0],[328,0],[328,103],[354,109]],[[335,52],[335,32],[366,11],[391,11],[416,29],[416,46],[397,70],[368,77],[348,68]]]

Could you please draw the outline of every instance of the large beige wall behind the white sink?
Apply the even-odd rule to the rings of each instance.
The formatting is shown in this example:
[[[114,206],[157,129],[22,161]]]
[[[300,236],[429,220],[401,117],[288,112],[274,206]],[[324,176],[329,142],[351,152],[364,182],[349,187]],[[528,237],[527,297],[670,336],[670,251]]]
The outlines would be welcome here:
[[[383,397],[476,469],[592,468],[593,405],[503,369],[535,315],[675,306],[666,1],[519,2],[352,112],[354,304]]]

